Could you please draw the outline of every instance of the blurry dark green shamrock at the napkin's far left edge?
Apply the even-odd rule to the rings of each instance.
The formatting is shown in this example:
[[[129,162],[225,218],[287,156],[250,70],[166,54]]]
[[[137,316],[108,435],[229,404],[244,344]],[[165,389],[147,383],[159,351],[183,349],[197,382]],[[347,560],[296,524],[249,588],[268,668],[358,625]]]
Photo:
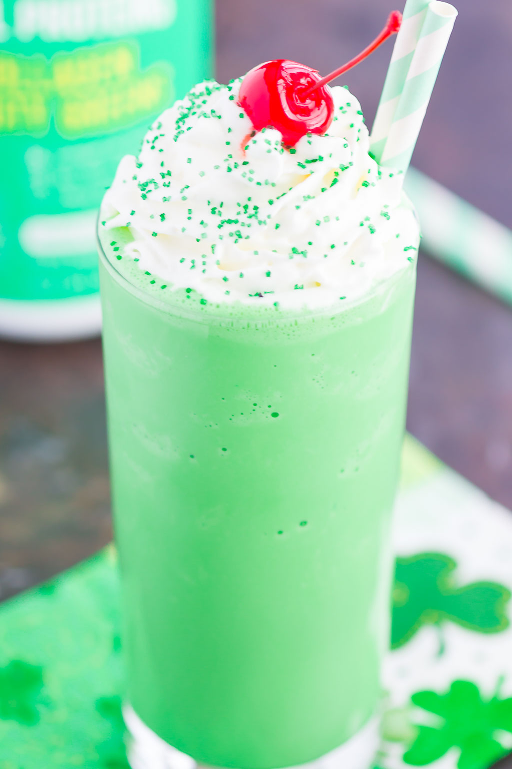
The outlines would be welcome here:
[[[0,667],[0,718],[24,726],[39,722],[38,700],[43,687],[42,668],[13,660]]]

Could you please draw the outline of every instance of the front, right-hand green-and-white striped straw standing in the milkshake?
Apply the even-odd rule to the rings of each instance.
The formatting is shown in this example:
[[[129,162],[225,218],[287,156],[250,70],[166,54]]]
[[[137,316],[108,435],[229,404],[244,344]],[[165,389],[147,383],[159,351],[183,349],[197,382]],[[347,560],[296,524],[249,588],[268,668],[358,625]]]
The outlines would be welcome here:
[[[381,165],[407,171],[455,18],[457,11],[453,5],[438,0],[428,3],[405,83],[401,94],[395,97],[395,112],[388,131],[378,141],[372,134],[371,151]],[[388,110],[388,119],[390,113]],[[378,130],[384,130],[383,118]]]

